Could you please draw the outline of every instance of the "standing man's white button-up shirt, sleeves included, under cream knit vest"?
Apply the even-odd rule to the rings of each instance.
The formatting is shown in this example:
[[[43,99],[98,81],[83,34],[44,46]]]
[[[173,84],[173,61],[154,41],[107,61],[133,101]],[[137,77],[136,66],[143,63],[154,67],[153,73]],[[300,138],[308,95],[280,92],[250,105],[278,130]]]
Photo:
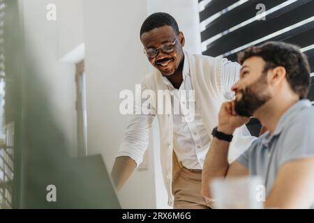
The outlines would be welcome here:
[[[225,61],[221,75],[221,86],[225,91],[224,95],[227,99],[232,99],[231,86],[239,79],[239,70],[241,66],[239,63]],[[210,75],[210,74],[209,74]],[[193,90],[193,85],[190,79],[190,68],[188,64],[188,56],[184,54],[184,70],[183,78],[179,90]],[[165,84],[167,84],[170,91],[178,91],[174,89],[171,82],[163,77]],[[177,93],[172,92],[174,96]],[[189,99],[188,99],[189,100]],[[190,101],[186,102],[190,102]],[[184,103],[182,101],[182,103]],[[195,102],[197,103],[197,102]],[[177,158],[184,167],[188,169],[202,169],[207,151],[211,143],[209,132],[207,132],[200,112],[195,105],[195,116],[193,121],[182,121],[184,114],[174,114],[173,116],[173,143],[174,152]],[[173,109],[173,103],[172,103]],[[154,120],[155,115],[129,115],[128,126],[124,140],[121,143],[117,157],[129,156],[135,160],[137,167],[142,162],[142,157],[139,155],[143,153],[149,143],[149,128]]]

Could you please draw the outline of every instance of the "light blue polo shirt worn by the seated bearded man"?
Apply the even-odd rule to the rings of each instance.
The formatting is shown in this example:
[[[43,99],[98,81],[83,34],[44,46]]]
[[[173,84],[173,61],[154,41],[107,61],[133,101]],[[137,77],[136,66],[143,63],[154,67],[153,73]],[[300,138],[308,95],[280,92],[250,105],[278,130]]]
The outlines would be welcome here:
[[[314,157],[314,107],[307,99],[287,109],[274,133],[262,134],[237,160],[248,167],[251,176],[262,177],[268,195],[279,168],[304,157]]]

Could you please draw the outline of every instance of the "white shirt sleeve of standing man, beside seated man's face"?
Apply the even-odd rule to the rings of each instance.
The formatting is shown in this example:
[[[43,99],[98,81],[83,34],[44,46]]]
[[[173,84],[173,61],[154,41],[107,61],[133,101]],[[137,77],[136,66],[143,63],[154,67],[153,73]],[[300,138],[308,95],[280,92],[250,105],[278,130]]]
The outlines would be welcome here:
[[[221,70],[221,87],[223,89],[223,96],[227,100],[234,98],[234,93],[231,91],[232,85],[239,80],[241,66],[237,62],[228,61],[223,63]]]

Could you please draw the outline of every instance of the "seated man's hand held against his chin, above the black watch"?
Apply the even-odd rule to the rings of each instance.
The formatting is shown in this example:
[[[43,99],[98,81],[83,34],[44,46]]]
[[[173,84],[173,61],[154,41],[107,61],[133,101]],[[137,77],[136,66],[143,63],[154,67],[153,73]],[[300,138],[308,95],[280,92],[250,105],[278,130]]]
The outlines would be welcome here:
[[[236,128],[250,120],[248,117],[239,116],[234,109],[234,100],[225,102],[220,108],[218,115],[217,130],[225,134],[233,134]]]

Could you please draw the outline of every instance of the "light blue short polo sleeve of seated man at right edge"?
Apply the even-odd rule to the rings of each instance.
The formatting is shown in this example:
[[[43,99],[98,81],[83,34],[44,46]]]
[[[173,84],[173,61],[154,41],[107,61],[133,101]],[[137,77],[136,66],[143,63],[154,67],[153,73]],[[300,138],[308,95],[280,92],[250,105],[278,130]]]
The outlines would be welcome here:
[[[314,112],[313,109],[308,112]],[[290,123],[290,128],[285,134],[279,165],[292,160],[314,157],[314,116],[313,114],[300,114]]]

